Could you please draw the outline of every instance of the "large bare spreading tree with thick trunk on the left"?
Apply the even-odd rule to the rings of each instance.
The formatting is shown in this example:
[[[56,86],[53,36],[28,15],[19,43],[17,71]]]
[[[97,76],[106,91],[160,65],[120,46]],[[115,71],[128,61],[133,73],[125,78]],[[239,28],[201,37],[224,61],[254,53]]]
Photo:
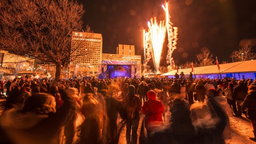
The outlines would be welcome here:
[[[62,65],[74,59],[71,36],[81,31],[83,14],[72,0],[0,0],[0,49],[53,63],[58,81]]]

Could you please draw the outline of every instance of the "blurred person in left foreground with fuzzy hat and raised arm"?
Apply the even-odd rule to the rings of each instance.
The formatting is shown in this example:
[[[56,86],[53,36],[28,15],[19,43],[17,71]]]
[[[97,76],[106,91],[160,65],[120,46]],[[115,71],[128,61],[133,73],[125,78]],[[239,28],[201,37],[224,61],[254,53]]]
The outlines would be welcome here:
[[[9,144],[60,144],[73,99],[60,89],[63,106],[56,111],[55,98],[47,93],[33,93],[21,111],[13,108],[0,116],[0,127],[9,139]],[[1,143],[6,143],[0,140]]]

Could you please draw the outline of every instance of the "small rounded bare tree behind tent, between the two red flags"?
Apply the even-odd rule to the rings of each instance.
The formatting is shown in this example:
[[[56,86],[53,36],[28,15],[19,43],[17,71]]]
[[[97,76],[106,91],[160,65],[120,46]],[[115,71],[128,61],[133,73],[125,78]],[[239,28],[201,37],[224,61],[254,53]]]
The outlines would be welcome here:
[[[203,52],[202,54],[196,55],[197,64],[198,66],[209,66],[213,65],[214,58],[213,54],[210,54],[210,52]]]

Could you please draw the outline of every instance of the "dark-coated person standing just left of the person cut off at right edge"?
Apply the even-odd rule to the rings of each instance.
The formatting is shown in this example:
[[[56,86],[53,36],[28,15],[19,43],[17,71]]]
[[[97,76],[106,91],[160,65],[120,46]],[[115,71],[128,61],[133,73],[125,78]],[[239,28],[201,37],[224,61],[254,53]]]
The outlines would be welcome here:
[[[245,99],[245,97],[247,95],[248,88],[244,84],[243,81],[238,81],[237,84],[238,84],[238,86],[236,86],[234,88],[233,95],[234,95],[234,98],[236,100],[237,115],[241,116],[242,115],[242,107],[240,105],[244,101],[244,99]]]

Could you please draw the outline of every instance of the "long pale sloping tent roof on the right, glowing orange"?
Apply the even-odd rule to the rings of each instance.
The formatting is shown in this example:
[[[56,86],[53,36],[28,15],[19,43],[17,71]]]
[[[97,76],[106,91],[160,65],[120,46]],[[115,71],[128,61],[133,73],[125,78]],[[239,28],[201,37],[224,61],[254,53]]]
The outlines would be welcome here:
[[[191,68],[179,69],[180,72],[184,72],[185,75],[189,75],[192,71]],[[160,76],[174,76],[177,70],[172,70]],[[210,66],[201,66],[194,67],[193,74],[202,75],[202,74],[225,74],[225,73],[247,73],[247,72],[256,72],[256,61],[248,60],[248,61],[240,61],[240,62],[232,62],[232,63],[224,63],[220,64],[220,71],[217,65]]]

